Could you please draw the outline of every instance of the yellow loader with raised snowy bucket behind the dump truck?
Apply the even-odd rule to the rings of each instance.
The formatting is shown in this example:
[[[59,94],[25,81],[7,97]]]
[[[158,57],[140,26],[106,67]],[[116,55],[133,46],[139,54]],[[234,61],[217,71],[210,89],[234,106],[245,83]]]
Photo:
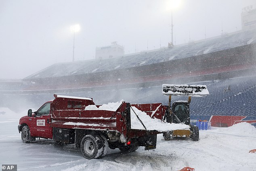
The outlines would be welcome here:
[[[193,141],[198,141],[199,129],[197,126],[190,125],[189,104],[191,97],[209,95],[206,85],[163,84],[162,88],[162,94],[169,96],[168,110],[166,110],[163,120],[169,123],[190,126],[190,129],[187,130],[164,132],[164,139],[170,140],[172,137],[189,137]],[[188,96],[188,101],[175,101],[171,104],[172,95]]]

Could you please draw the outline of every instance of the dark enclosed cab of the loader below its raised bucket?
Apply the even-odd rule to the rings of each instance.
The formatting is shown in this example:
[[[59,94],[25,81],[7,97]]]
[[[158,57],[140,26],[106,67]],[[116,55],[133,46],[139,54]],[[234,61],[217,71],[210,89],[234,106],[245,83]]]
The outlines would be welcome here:
[[[184,123],[190,124],[189,118],[189,102],[187,101],[176,101],[172,103],[172,122],[179,124]]]

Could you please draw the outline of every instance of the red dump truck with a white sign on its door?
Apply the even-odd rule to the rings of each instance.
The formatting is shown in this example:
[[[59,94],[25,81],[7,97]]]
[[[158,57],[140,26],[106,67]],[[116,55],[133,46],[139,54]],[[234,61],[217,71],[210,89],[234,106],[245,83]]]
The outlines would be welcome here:
[[[145,146],[145,150],[156,148],[157,134],[161,132],[132,129],[130,103],[122,102],[116,111],[85,110],[86,106],[95,105],[91,98],[54,97],[37,111],[29,109],[27,116],[21,117],[18,130],[24,143],[46,138],[59,144],[75,144],[86,159],[104,157],[108,147],[128,152],[137,150],[138,146]],[[151,117],[162,119],[163,106],[155,109],[159,104],[137,107]]]

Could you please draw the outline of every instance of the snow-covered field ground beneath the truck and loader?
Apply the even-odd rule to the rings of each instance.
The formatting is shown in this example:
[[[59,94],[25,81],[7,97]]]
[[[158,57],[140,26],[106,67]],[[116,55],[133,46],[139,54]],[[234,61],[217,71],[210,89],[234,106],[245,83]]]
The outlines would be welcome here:
[[[86,160],[73,145],[56,146],[53,141],[23,144],[17,126],[23,113],[0,108],[0,165],[17,165],[24,171],[256,171],[256,128],[247,123],[229,128],[200,131],[198,142],[189,139],[162,140],[157,148],[122,153],[110,150],[103,159]],[[4,113],[5,112],[5,113]]]

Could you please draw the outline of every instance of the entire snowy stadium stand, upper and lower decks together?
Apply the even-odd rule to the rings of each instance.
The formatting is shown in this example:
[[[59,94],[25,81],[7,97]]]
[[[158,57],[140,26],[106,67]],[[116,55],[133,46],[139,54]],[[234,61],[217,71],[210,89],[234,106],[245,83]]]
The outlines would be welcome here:
[[[191,115],[256,116],[255,73],[252,29],[120,58],[54,64],[24,78],[23,86],[0,88],[0,94],[35,108],[54,93],[92,97],[97,104],[124,99],[167,105],[162,84],[206,84],[210,95],[192,98]],[[181,99],[187,100],[173,97]]]

